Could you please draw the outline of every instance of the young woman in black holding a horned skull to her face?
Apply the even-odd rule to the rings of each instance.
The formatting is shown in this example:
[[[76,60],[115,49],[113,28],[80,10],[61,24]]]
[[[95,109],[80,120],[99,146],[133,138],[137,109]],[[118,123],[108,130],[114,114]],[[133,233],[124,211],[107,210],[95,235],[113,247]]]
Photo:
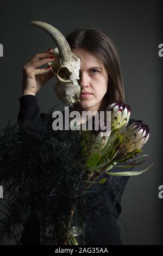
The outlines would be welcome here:
[[[66,40],[71,51],[81,60],[80,80],[78,80],[81,87],[80,102],[74,103],[72,109],[79,111],[82,115],[82,111],[104,111],[110,103],[116,100],[124,102],[118,54],[109,37],[102,31],[90,28],[74,31],[67,36]],[[22,96],[20,97],[18,120],[34,120],[35,123],[41,123],[41,114],[35,95],[54,76],[51,66],[47,66],[45,69],[40,68],[55,58],[51,51],[52,48],[49,48],[43,53],[37,53],[23,66]],[[133,121],[134,119],[130,119],[129,124]],[[105,175],[103,174],[103,177]],[[101,176],[101,178],[103,177]],[[91,221],[90,218],[85,225],[83,242],[85,245],[122,244],[117,218],[121,214],[121,196],[127,180],[128,177],[112,178],[112,187],[117,186],[117,191],[111,190],[111,188],[106,190],[107,186],[109,187],[108,182],[103,184],[103,188],[98,184],[91,186],[95,190],[106,191],[103,203],[106,208],[109,208],[110,214],[96,216],[96,222]],[[39,223],[34,216],[26,224],[21,242],[23,245],[39,244]]]

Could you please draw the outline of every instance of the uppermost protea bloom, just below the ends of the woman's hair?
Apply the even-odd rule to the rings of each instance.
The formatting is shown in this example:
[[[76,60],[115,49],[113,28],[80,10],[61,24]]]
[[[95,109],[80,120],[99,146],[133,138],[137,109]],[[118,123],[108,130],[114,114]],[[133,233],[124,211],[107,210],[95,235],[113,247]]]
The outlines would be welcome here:
[[[111,111],[111,129],[118,129],[122,125],[127,126],[131,114],[129,105],[115,101],[106,108],[106,111]]]

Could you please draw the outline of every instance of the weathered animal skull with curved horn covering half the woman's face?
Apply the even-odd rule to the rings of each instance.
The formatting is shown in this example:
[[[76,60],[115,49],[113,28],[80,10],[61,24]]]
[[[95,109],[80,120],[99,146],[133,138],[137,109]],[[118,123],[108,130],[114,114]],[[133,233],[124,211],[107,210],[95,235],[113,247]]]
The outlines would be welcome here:
[[[68,42],[57,28],[42,21],[32,21],[30,25],[42,28],[52,36],[57,45],[52,51],[55,59],[49,63],[58,80],[54,86],[56,95],[68,106],[79,102],[80,86],[77,80],[79,80],[80,59],[71,52]]]

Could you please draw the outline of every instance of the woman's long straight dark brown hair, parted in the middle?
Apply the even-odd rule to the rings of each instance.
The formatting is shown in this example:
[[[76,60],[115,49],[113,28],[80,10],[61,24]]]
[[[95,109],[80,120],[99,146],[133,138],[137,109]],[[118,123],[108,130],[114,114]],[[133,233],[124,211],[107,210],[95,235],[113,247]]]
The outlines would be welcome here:
[[[111,39],[103,31],[88,28],[73,31],[67,35],[66,40],[71,50],[83,48],[83,50],[98,58],[108,71],[108,90],[103,97],[99,111],[105,110],[110,103],[116,100],[124,102],[120,62]]]

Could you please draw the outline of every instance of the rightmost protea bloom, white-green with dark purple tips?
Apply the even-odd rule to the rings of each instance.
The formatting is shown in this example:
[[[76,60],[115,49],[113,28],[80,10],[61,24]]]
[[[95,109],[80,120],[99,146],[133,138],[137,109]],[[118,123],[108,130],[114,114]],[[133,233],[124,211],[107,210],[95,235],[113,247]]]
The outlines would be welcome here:
[[[126,153],[141,149],[148,141],[149,127],[142,120],[134,121],[122,134],[120,148],[127,148]]]

